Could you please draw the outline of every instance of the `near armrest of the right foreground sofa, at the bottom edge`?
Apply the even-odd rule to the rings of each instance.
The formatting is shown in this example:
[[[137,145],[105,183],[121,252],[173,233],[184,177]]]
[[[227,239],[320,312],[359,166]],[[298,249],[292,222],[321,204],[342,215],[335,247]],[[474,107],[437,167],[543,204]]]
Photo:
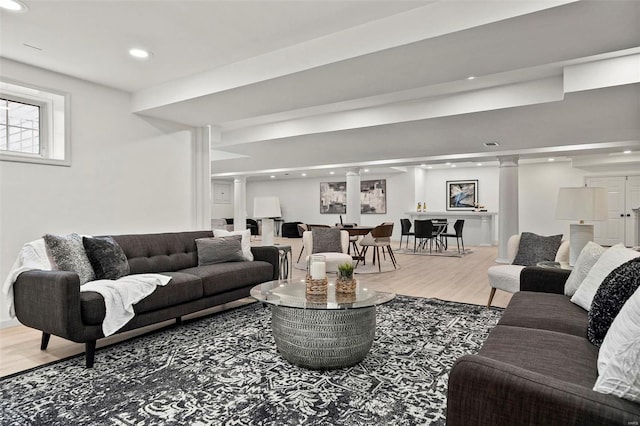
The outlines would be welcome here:
[[[480,355],[449,375],[447,425],[635,424],[640,404]]]

